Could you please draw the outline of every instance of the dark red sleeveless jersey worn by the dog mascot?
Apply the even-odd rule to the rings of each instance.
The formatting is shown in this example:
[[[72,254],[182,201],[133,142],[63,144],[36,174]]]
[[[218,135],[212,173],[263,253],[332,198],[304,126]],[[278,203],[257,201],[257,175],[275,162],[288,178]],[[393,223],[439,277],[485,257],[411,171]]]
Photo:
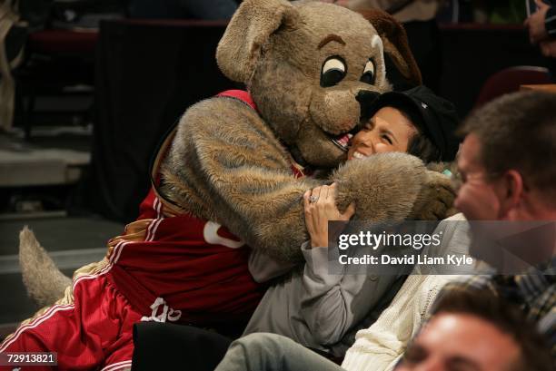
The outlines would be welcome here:
[[[254,109],[249,93],[219,94]],[[140,207],[138,220],[124,236],[110,241],[114,267],[108,278],[143,320],[195,325],[248,319],[263,295],[248,270],[250,249],[225,227],[199,220],[157,194],[158,165],[174,131],[158,151],[154,185]],[[150,315],[150,316],[149,316]]]

